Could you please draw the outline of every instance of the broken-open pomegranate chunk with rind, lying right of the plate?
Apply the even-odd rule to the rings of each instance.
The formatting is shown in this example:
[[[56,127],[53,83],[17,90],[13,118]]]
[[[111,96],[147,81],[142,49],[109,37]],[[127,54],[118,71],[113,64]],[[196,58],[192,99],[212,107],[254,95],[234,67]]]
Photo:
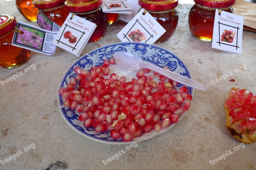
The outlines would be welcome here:
[[[256,96],[244,89],[231,88],[224,102],[226,126],[239,141],[256,141]]]

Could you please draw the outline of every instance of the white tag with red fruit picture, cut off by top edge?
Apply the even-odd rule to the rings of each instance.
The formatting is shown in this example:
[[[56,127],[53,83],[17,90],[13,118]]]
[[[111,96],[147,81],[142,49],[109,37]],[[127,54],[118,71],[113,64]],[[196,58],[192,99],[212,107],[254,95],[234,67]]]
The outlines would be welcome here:
[[[125,0],[103,0],[101,9],[103,12],[107,11],[121,11],[131,10],[132,7]]]

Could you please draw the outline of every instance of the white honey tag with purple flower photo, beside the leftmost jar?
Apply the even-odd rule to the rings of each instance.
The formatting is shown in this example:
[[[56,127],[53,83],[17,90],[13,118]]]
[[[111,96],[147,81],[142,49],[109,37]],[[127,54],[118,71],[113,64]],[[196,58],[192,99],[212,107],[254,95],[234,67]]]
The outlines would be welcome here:
[[[12,45],[25,48],[37,53],[52,55],[56,46],[52,44],[57,32],[43,30],[41,28],[18,21],[17,26],[22,33],[14,32]]]

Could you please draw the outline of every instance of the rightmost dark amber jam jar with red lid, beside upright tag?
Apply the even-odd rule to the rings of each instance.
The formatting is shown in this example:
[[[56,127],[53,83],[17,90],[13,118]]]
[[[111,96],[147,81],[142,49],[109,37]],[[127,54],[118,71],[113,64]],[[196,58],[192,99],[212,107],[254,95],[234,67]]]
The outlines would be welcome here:
[[[188,15],[188,25],[193,37],[201,41],[212,41],[213,24],[215,10],[221,9],[229,13],[234,13],[231,5],[236,0],[225,1],[207,1],[194,0],[196,3],[190,10]]]

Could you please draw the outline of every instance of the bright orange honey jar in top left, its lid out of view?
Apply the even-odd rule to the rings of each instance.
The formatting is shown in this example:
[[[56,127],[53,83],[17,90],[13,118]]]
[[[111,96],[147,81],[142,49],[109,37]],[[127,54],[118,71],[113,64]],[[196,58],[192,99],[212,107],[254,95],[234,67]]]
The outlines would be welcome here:
[[[36,22],[37,8],[34,7],[33,0],[16,0],[16,6],[29,21]]]

